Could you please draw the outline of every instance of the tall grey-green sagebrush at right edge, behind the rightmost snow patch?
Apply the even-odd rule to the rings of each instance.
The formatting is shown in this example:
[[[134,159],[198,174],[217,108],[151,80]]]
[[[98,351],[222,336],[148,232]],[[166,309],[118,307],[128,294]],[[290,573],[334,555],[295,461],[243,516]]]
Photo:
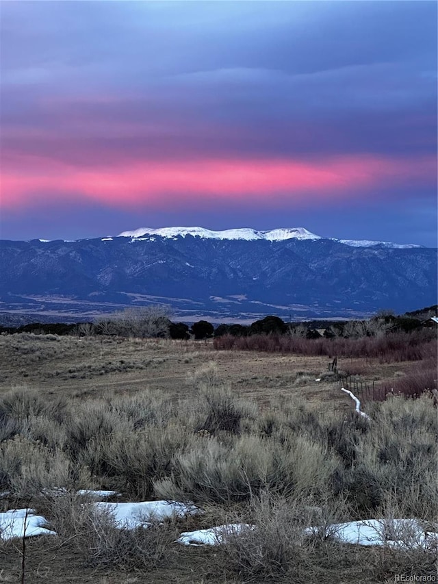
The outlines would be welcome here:
[[[345,470],[341,489],[359,514],[374,513],[393,493],[404,500],[407,516],[433,520],[437,420],[432,404],[424,395],[417,400],[392,398],[370,408],[372,427],[359,441],[355,465]]]

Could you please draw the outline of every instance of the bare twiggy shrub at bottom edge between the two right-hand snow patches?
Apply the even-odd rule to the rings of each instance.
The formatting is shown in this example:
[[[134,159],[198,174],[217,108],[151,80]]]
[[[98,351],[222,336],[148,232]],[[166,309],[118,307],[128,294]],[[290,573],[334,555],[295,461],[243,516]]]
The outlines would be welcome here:
[[[331,499],[315,505],[311,498],[284,498],[264,491],[250,501],[244,515],[246,524],[255,529],[231,531],[225,538],[222,570],[227,576],[238,574],[243,582],[341,581],[339,575],[343,570],[339,562],[348,555],[345,572],[351,576],[356,550],[331,544],[324,537],[308,537],[305,529],[310,525],[328,527],[348,516],[343,500]],[[237,518],[242,521],[242,516],[232,515],[227,522]]]

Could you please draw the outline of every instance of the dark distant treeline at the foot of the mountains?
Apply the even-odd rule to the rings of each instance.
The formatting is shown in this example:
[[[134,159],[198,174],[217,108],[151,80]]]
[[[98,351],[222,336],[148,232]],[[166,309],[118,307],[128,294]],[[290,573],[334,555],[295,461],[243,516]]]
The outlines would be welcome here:
[[[191,326],[185,322],[172,322],[163,307],[125,309],[94,322],[66,324],[63,322],[34,322],[19,327],[0,327],[0,333],[34,333],[53,335],[118,335],[140,338],[207,339],[224,336],[248,337],[251,335],[287,335],[296,338],[363,338],[387,333],[409,333],[424,327],[436,327],[430,320],[437,314],[437,305],[426,307],[402,316],[383,311],[368,320],[309,320],[285,322],[279,316],[266,316],[251,325],[221,324],[214,327],[207,320],[198,320]]]

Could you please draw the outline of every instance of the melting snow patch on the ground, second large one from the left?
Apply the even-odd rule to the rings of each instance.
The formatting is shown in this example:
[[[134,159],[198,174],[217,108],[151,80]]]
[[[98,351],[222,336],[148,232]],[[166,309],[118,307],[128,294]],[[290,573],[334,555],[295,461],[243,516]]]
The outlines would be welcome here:
[[[94,503],[97,511],[111,513],[116,525],[125,529],[147,526],[151,521],[163,521],[171,517],[185,517],[201,513],[195,505],[177,501],[142,501],[140,503]]]

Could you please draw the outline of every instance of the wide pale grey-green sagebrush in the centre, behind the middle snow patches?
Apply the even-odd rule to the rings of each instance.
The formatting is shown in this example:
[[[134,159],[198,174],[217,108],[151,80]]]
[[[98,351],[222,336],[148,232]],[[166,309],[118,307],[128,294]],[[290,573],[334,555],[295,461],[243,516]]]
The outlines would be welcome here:
[[[337,458],[307,437],[283,432],[270,437],[242,434],[234,440],[201,435],[174,457],[172,474],[154,483],[164,498],[216,503],[272,493],[321,494],[338,466]]]

